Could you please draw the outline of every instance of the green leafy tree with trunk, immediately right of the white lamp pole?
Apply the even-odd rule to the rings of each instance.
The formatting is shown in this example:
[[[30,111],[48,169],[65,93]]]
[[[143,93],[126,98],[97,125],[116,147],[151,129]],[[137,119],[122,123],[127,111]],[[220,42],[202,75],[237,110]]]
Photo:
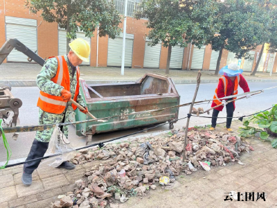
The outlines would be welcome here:
[[[172,46],[186,47],[192,42],[199,48],[206,43],[206,38],[218,30],[213,21],[216,16],[215,0],[143,0],[134,17],[146,17],[150,46],[162,42],[169,47],[167,73]]]

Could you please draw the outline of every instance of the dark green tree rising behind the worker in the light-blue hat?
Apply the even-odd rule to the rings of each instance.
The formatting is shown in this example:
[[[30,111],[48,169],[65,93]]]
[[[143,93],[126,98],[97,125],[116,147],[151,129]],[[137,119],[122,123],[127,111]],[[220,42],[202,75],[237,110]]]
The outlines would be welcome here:
[[[220,51],[215,74],[218,74],[222,50],[235,53],[236,58],[249,58],[249,51],[262,44],[268,19],[258,10],[253,1],[226,0],[217,3],[219,12],[215,24],[219,24],[219,35],[211,35],[208,43]]]

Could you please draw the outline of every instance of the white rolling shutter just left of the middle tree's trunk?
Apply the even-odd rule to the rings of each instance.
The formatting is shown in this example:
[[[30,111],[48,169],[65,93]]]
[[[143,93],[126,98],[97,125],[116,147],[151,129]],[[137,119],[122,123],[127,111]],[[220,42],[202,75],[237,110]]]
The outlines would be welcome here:
[[[159,68],[161,55],[161,44],[156,46],[148,46],[148,41],[145,41],[144,51],[144,68]]]

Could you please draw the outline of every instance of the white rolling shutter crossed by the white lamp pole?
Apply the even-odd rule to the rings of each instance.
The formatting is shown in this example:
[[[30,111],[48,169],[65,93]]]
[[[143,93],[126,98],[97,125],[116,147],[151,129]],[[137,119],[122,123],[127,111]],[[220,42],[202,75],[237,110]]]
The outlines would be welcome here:
[[[126,34],[124,67],[132,67],[134,34]],[[123,33],[115,39],[109,38],[107,66],[121,67],[123,49]]]

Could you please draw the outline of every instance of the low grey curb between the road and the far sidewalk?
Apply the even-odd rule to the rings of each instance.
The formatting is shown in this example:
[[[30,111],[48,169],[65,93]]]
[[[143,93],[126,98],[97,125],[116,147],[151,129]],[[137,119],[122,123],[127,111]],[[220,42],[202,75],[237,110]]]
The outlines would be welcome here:
[[[134,81],[101,81],[86,80],[89,85],[92,84],[108,84],[108,83],[133,83]],[[196,80],[173,80],[175,85],[196,84]],[[277,80],[247,80],[248,83],[277,83]],[[218,80],[201,80],[202,84],[218,83]],[[0,86],[10,85],[12,87],[37,87],[35,80],[0,80]]]

